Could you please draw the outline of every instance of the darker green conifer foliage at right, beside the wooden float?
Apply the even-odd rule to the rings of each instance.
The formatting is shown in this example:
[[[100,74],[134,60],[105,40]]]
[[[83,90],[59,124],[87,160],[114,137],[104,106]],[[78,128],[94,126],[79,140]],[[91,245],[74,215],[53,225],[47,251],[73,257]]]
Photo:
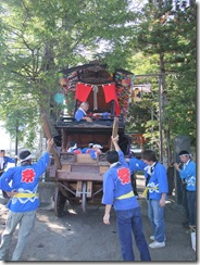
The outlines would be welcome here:
[[[143,70],[142,74],[147,76],[158,73],[163,77],[161,122],[165,152],[168,147],[172,152],[173,140],[178,135],[189,136],[192,144],[196,141],[196,4],[195,1],[190,1],[188,5],[184,4],[184,1],[180,2],[182,4],[175,7],[174,1],[149,1],[143,7],[135,36],[137,41],[134,42],[143,58],[137,53],[142,60],[136,61],[135,54],[129,60],[133,68],[137,70],[139,66],[138,74]],[[142,113],[149,113],[150,116],[149,105],[152,106],[153,113],[159,114],[159,86],[151,77],[146,77],[146,81],[147,79],[152,84],[153,99],[157,99],[157,104],[142,103]],[[140,83],[145,78],[140,78]],[[149,100],[151,98],[152,96]],[[159,118],[159,115],[157,116]],[[151,144],[153,142],[154,147],[158,147],[159,121],[151,119],[142,119],[138,126],[143,124],[145,136]],[[172,153],[167,155],[171,156]]]

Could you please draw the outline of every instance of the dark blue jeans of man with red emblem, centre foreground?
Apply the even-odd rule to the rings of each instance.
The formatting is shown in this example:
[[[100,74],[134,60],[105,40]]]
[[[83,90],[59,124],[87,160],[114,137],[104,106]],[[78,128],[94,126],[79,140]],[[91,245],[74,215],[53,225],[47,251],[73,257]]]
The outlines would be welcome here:
[[[151,261],[147,241],[142,231],[142,220],[139,207],[116,211],[116,225],[123,261],[135,261],[133,234],[140,253],[140,260]]]

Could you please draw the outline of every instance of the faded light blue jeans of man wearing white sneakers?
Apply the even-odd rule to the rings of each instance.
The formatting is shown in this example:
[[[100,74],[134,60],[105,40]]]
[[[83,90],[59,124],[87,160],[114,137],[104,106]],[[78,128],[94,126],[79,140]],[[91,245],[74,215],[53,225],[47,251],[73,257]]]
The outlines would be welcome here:
[[[164,207],[159,205],[159,200],[148,200],[148,217],[151,222],[154,240],[157,242],[164,242],[165,225],[164,225]]]

